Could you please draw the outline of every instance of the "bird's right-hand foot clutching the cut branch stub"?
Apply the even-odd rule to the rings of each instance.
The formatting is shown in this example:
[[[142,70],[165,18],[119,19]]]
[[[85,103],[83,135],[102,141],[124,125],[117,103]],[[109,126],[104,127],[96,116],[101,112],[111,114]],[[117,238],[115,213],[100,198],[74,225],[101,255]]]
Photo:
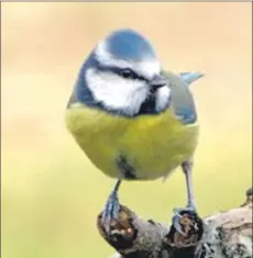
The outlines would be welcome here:
[[[186,207],[174,209],[173,226],[178,233],[183,236],[186,236],[184,228],[184,215],[195,215],[197,214],[196,207],[194,204],[187,205]]]

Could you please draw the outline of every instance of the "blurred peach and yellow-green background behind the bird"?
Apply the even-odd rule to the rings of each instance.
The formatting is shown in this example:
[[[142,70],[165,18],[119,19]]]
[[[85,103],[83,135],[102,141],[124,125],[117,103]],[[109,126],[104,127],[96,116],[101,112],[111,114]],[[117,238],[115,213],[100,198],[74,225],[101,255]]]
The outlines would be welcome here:
[[[201,215],[238,205],[251,186],[251,3],[2,3],[2,257],[105,258],[96,216],[114,183],[64,126],[84,58],[111,30],[133,27],[164,67],[199,70],[194,183]],[[182,172],[125,182],[122,203],[169,222],[185,205]]]

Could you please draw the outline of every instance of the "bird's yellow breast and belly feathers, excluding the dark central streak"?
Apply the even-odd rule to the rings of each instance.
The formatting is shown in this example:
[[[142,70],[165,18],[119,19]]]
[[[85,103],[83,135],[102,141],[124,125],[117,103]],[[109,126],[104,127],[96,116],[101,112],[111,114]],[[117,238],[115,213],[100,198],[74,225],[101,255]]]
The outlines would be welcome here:
[[[66,125],[94,165],[118,178],[120,156],[138,179],[166,176],[194,155],[197,124],[185,126],[170,112],[134,119],[75,104],[66,112]]]

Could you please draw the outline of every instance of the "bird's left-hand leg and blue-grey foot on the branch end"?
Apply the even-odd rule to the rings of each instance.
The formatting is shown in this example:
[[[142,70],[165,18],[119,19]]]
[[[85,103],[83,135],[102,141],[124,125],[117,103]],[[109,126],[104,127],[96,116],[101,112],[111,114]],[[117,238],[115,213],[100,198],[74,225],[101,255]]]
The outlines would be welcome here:
[[[120,211],[120,202],[118,198],[118,191],[121,184],[121,180],[119,179],[109,195],[106,206],[102,211],[102,217],[101,217],[101,223],[105,226],[105,229],[107,233],[110,233],[110,225],[111,221],[118,218],[118,214]]]

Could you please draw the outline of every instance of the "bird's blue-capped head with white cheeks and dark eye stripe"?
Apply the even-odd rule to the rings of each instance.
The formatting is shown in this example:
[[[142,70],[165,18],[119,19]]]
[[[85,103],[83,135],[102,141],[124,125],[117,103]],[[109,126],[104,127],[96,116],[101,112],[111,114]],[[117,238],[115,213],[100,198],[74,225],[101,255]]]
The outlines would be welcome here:
[[[160,113],[170,103],[170,90],[150,42],[132,30],[102,40],[80,69],[78,101],[127,116]],[[92,101],[90,100],[92,99]]]

